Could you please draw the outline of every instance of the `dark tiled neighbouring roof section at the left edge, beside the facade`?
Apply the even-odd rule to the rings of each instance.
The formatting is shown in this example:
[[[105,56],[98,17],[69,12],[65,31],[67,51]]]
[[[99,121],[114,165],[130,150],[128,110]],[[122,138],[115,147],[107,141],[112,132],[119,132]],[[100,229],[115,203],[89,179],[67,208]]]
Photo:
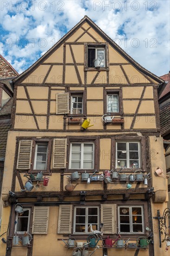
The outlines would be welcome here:
[[[6,141],[8,131],[11,128],[11,121],[0,120],[0,158],[5,157],[6,155]]]

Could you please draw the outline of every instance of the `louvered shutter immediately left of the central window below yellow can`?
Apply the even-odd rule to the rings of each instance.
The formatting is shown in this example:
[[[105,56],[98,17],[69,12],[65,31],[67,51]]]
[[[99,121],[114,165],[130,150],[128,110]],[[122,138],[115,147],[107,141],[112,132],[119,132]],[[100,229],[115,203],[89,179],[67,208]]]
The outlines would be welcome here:
[[[54,139],[52,152],[52,168],[66,168],[67,139]]]

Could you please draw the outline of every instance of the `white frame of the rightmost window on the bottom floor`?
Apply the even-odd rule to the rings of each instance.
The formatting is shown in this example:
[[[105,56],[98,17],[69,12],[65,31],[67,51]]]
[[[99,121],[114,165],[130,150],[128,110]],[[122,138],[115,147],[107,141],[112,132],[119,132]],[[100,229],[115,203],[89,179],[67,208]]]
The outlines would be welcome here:
[[[130,225],[130,232],[120,232],[120,207],[125,207],[129,208],[129,225]],[[141,216],[142,216],[142,232],[132,232],[132,207],[139,207],[141,208]],[[118,217],[118,232],[119,234],[128,234],[128,235],[133,235],[133,234],[145,234],[145,216],[144,216],[144,205],[118,205],[118,211],[117,211],[117,217]]]

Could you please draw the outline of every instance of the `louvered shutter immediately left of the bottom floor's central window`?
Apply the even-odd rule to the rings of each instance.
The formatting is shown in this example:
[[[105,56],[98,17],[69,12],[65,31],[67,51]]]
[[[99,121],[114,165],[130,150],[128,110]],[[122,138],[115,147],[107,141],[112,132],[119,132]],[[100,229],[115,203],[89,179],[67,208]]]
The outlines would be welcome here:
[[[58,214],[58,234],[71,234],[72,205],[60,205]]]

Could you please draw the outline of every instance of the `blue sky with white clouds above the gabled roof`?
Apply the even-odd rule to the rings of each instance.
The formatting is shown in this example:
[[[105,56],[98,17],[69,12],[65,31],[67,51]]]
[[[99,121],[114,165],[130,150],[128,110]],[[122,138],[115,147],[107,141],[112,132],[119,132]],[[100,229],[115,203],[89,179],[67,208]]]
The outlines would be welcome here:
[[[20,73],[88,15],[135,61],[170,69],[170,0],[1,0],[0,54]]]

